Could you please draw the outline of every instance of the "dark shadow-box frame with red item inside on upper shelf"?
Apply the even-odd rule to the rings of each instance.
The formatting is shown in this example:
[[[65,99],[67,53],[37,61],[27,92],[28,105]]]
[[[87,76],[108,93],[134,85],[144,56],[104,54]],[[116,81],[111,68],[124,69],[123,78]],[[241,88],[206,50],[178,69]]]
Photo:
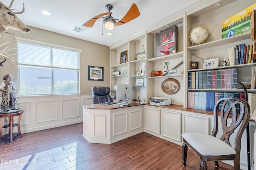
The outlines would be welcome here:
[[[156,33],[156,57],[178,52],[178,26]]]

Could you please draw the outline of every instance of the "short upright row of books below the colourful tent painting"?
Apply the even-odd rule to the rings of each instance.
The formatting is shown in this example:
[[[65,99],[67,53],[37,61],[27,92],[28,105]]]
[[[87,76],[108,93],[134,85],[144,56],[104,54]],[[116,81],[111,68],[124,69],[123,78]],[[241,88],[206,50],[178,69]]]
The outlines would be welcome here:
[[[254,59],[252,51],[252,45],[245,45],[244,43],[238,44],[236,47],[228,48],[230,66],[256,63],[256,59]]]

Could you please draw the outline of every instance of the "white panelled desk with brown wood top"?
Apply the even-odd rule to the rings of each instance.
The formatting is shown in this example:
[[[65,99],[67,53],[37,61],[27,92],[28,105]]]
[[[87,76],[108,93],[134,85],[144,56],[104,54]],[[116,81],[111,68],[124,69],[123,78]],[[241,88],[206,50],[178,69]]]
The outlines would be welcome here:
[[[111,144],[144,131],[143,105],[83,105],[83,137]]]

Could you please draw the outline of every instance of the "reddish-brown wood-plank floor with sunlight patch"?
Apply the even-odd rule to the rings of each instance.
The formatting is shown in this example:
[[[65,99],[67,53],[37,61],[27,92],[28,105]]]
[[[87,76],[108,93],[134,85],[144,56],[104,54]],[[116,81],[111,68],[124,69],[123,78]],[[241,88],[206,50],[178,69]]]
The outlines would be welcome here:
[[[13,143],[0,141],[1,170],[199,170],[200,159],[188,150],[182,166],[182,147],[148,133],[140,133],[111,145],[88,143],[82,137],[82,123],[57,127],[15,137]],[[232,170],[220,162],[215,168]]]

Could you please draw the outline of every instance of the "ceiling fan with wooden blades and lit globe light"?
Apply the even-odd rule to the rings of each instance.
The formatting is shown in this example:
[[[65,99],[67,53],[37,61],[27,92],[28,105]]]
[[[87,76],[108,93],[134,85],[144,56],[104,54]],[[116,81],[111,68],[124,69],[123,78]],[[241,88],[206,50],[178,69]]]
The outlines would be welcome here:
[[[96,20],[98,20],[99,18],[104,18],[102,20],[102,23],[104,24],[104,26],[106,27],[107,30],[111,31],[115,27],[115,25],[122,25],[122,24],[127,23],[131,20],[134,20],[135,18],[140,16],[140,11],[139,11],[138,7],[136,6],[136,4],[132,4],[131,8],[128,10],[128,12],[125,14],[124,18],[122,18],[122,20],[115,19],[114,17],[111,16],[112,12],[110,12],[110,11],[113,9],[113,6],[111,4],[106,4],[105,7],[108,10],[108,12],[95,16],[94,18],[88,20],[83,25],[86,27],[92,27],[94,25],[94,23],[96,22]],[[108,16],[106,16],[106,15],[108,15]],[[116,22],[116,20],[117,20],[117,22]]]

